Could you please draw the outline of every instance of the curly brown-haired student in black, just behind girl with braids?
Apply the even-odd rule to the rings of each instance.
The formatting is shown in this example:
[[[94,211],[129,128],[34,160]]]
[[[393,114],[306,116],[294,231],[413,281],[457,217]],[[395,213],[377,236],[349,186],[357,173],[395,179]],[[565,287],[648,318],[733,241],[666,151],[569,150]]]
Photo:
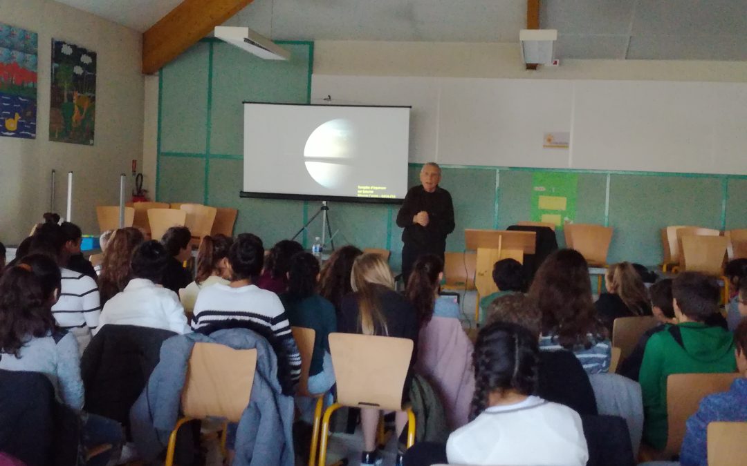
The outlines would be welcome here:
[[[498,297],[488,308],[486,325],[512,322],[529,330],[539,341],[542,315],[525,295]],[[597,415],[589,376],[571,351],[540,351],[537,396],[568,406],[580,415]]]

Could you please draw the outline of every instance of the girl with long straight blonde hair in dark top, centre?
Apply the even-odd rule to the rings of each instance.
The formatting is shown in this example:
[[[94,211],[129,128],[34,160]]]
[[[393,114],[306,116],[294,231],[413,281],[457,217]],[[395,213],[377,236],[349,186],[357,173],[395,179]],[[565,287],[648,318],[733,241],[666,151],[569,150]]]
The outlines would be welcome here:
[[[378,254],[362,254],[353,262],[353,273],[350,276],[353,293],[342,300],[341,314],[338,319],[338,330],[343,333],[363,335],[394,336],[411,339],[418,347],[418,318],[412,304],[394,291],[394,277],[385,259]],[[415,363],[415,350],[410,359],[403,388],[403,400],[406,400],[412,381],[412,365]],[[361,455],[362,465],[377,465],[382,461],[376,451],[376,424],[379,421],[378,409],[361,409],[361,426],[363,430],[364,451]],[[405,412],[397,412],[395,418],[397,435],[402,433],[407,424]]]

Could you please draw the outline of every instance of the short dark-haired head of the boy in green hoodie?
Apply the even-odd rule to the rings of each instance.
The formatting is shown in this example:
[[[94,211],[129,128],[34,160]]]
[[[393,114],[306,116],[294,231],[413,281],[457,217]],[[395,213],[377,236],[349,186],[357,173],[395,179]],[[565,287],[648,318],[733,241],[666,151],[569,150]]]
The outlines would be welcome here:
[[[672,281],[675,306],[692,321],[702,322],[719,312],[721,288],[713,277],[682,272]]]

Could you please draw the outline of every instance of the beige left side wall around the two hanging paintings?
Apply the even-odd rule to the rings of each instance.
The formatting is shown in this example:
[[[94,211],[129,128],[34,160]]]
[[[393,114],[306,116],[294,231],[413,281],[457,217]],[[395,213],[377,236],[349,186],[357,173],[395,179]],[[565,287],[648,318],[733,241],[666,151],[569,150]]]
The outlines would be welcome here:
[[[72,221],[98,233],[96,205],[117,203],[119,174],[131,181],[131,160],[142,163],[141,34],[50,0],[0,0],[0,21],[39,34],[37,138],[0,137],[0,241],[16,244],[49,210],[52,169],[56,211],[64,215],[66,173],[73,171]],[[49,141],[52,37],[96,51],[93,146]]]

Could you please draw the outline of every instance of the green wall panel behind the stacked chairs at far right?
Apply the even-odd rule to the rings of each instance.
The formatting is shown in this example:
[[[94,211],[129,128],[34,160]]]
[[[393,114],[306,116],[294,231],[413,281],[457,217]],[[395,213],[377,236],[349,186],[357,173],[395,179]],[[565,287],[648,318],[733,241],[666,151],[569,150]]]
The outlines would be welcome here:
[[[657,265],[663,260],[661,229],[667,225],[721,227],[722,187],[716,177],[613,174],[607,262]]]

